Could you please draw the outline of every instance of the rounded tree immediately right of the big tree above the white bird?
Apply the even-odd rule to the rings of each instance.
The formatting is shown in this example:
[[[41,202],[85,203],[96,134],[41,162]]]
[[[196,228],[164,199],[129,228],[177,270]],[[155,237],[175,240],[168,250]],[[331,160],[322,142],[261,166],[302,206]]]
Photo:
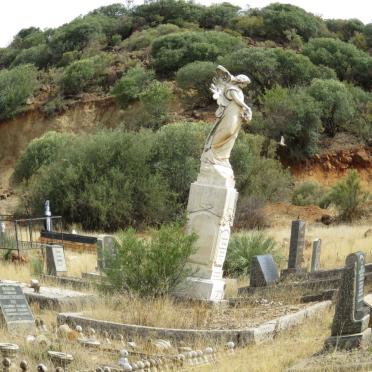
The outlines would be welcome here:
[[[355,110],[353,97],[343,83],[314,79],[308,92],[321,107],[325,133],[334,136],[341,129],[347,129]]]

